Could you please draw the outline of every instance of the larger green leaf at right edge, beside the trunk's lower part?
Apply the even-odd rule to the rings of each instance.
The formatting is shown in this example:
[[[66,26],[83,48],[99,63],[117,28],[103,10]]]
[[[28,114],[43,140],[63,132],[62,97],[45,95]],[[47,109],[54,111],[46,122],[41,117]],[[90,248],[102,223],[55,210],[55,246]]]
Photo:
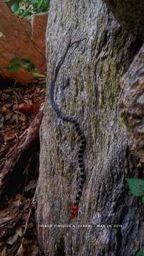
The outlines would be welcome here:
[[[127,178],[128,187],[134,196],[144,195],[144,180],[140,178]]]

